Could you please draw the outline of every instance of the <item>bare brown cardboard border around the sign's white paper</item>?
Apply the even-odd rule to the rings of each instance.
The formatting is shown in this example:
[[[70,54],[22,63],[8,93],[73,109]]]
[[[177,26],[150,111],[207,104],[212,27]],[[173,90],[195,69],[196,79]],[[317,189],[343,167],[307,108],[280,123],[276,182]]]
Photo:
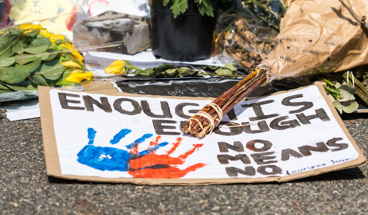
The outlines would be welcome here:
[[[333,116],[335,117],[337,123],[339,123],[342,128],[344,134],[348,137],[349,141],[352,143],[354,148],[358,151],[359,156],[358,159],[348,161],[342,164],[334,165],[332,167],[325,167],[315,170],[310,170],[306,172],[300,172],[293,175],[287,176],[270,176],[266,178],[221,178],[221,179],[153,179],[153,178],[102,178],[98,176],[77,176],[77,175],[62,175],[59,163],[59,155],[57,153],[57,145],[56,138],[54,133],[54,124],[52,117],[52,109],[50,102],[50,87],[39,87],[39,100],[40,100],[40,112],[41,112],[41,124],[42,124],[42,134],[43,134],[43,145],[45,149],[45,160],[46,160],[46,171],[47,175],[71,179],[71,180],[79,180],[79,181],[94,181],[94,182],[116,182],[116,183],[134,183],[139,185],[211,185],[211,184],[223,184],[223,183],[258,183],[258,182],[285,182],[291,181],[299,178],[305,178],[308,176],[314,176],[318,174],[322,174],[325,172],[342,170],[345,168],[357,167],[359,165],[365,164],[367,159],[362,154],[361,150],[358,148],[355,143],[353,137],[348,132],[345,124],[341,120],[339,114],[336,112],[333,107],[330,99],[328,98],[323,86],[321,83],[315,83],[318,87],[318,90],[321,92],[323,98],[325,98],[326,103],[328,104]],[[309,86],[307,86],[309,87]],[[306,87],[301,87],[298,89],[290,90],[295,91]],[[63,89],[58,89],[63,90]],[[71,90],[67,90],[71,91]],[[285,92],[285,91],[283,91]],[[275,94],[280,94],[283,92],[277,92]],[[88,92],[92,94],[100,94],[100,92]],[[137,94],[128,94],[123,92],[118,93],[105,93],[106,95],[123,95],[123,96],[135,96],[135,97],[151,97],[151,98],[176,98],[176,99],[193,99],[192,97],[178,97],[178,96],[152,96],[152,95],[137,95]],[[275,95],[272,94],[272,95]],[[267,96],[263,96],[267,97]],[[195,98],[198,100],[207,100],[212,98]],[[49,117],[47,117],[49,116]]]

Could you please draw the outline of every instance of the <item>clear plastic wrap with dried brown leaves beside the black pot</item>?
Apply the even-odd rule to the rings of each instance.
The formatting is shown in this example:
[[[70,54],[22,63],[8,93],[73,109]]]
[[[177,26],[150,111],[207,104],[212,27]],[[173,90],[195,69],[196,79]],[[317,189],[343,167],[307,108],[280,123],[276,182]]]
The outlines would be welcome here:
[[[217,21],[215,61],[250,72],[275,45],[285,10],[282,0],[235,0]]]

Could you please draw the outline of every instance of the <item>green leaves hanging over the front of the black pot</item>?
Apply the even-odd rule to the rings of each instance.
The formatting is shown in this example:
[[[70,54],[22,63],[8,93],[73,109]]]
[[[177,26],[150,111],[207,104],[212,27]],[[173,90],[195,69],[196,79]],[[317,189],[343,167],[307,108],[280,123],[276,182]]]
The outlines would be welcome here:
[[[172,2],[170,9],[173,11],[174,18],[187,11],[188,0],[163,0],[163,6],[166,6],[170,1]],[[199,13],[201,13],[201,15],[206,14],[210,17],[213,17],[213,7],[210,0],[194,0],[194,2],[197,4]]]

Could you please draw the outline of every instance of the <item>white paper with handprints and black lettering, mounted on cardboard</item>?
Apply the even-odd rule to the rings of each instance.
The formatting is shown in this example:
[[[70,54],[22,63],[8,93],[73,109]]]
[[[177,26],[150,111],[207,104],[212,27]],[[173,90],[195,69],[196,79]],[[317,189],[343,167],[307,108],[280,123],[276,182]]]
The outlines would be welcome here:
[[[59,100],[59,95],[61,96],[60,98],[63,98],[63,93],[66,93],[65,98],[69,100],[69,103],[64,103],[64,108],[61,107]],[[73,95],[70,96],[70,94]],[[295,103],[291,103],[294,106],[290,106],[290,103],[286,102],[288,99],[285,100],[285,98],[293,95],[298,95],[299,97],[291,99],[290,102],[311,102],[313,106],[299,113],[289,113],[289,111],[299,110],[304,107],[304,105],[300,104],[299,106],[295,106]],[[212,133],[212,135],[202,139],[182,134],[179,124],[180,121],[185,121],[185,119],[178,116],[181,113],[181,109],[177,105],[181,103],[194,103],[191,106],[185,106],[183,108],[183,114],[192,116],[193,114],[189,113],[189,110],[194,110],[191,112],[195,112],[195,110],[200,109],[203,105],[211,101],[107,96],[88,94],[86,92],[60,91],[56,89],[50,90],[50,98],[62,174],[100,176],[105,178],[258,178],[286,176],[298,172],[329,167],[355,160],[359,156],[333,117],[325,99],[316,86],[272,95],[266,98],[243,101],[234,108],[237,119],[231,121],[238,124],[242,122],[247,123],[252,121],[249,118],[256,116],[255,111],[254,108],[246,108],[242,105],[273,100],[271,103],[261,105],[263,115],[279,114],[278,116],[265,119],[269,131],[249,134],[245,133],[243,128],[240,127],[232,128],[234,131],[239,131],[238,129],[240,129],[239,134],[233,133],[235,135],[226,136]],[[88,105],[88,101],[91,101],[91,98],[98,102],[101,102],[100,99],[102,101],[106,100],[104,105],[107,112],[96,105]],[[168,111],[172,117],[169,116],[170,114],[163,116],[164,118],[156,118],[157,116],[150,117],[147,115],[149,114],[147,107],[144,107],[140,113],[136,112],[137,114],[135,115],[128,115],[126,114],[127,112],[133,114],[132,111],[134,110],[131,102],[124,101],[120,105],[120,103],[117,103],[119,101],[117,99],[132,99],[135,101],[133,103],[137,105],[137,110],[145,106],[145,103],[148,103],[152,113],[156,115],[163,114],[161,104],[165,105],[165,102],[167,102],[169,106]],[[70,100],[74,100],[74,102],[70,102]],[[286,102],[289,106],[283,105],[283,100],[283,103]],[[307,104],[309,105],[311,103]],[[199,106],[195,106],[195,104]],[[93,107],[93,111],[91,111],[91,106]],[[66,109],[67,107],[79,107],[80,109],[84,108],[84,110],[74,110],[75,108]],[[86,107],[89,107],[88,110],[85,109]],[[109,107],[111,108],[111,112]],[[316,114],[316,110],[319,110],[319,113],[326,113],[326,116],[321,117],[325,121],[316,118],[309,120],[311,124],[302,124],[301,120],[296,116],[296,114],[305,114],[305,116],[314,115]],[[300,126],[284,130],[275,129],[277,125],[280,125],[280,123],[275,124],[275,119],[283,116],[287,116],[289,119],[282,120],[281,122],[294,120],[293,124]],[[177,134],[156,134],[156,132],[159,132],[159,129],[156,127],[155,130],[153,120],[174,121],[174,123],[166,121],[170,123],[163,124],[174,126],[174,129],[164,128],[162,131],[177,132]],[[225,115],[222,121],[230,121],[229,116]],[[260,119],[259,122],[261,121],[263,120]],[[272,123],[272,121],[274,122]],[[287,125],[287,123],[281,124],[284,126]],[[87,132],[88,128],[90,128],[90,135]],[[251,130],[259,130],[257,123],[251,124],[250,128]],[[116,144],[112,144],[115,142],[110,142],[110,140],[114,139],[114,136],[123,129],[129,129],[131,132],[126,134],[120,141],[115,140],[117,142]],[[96,132],[95,138],[93,139],[94,131]],[[220,131],[229,132],[230,128],[220,128]],[[150,145],[150,142],[155,142],[157,136],[161,136],[158,142],[161,143],[162,147],[159,147],[155,154],[149,153],[140,157],[138,156],[139,158],[137,158],[134,152],[128,153],[128,149],[125,146],[134,143],[135,140],[145,134],[152,134],[152,136],[137,145],[137,152],[143,152],[149,147],[152,149],[155,143]],[[175,146],[177,138],[182,138],[181,143],[168,156],[167,152],[170,152],[170,149]],[[334,138],[341,139],[332,141]],[[256,140],[254,147],[258,149],[252,147],[251,143],[253,140]],[[269,141],[272,145],[266,147],[267,144],[259,143],[258,140]],[[167,145],[164,142],[167,142]],[[220,152],[219,145],[224,146],[222,142],[229,143],[230,145],[236,144],[236,146],[241,144],[244,149],[242,150],[240,146],[238,148],[233,147],[233,149],[230,147],[228,148],[228,152],[225,152],[226,150],[224,151],[224,149],[222,149],[223,152]],[[307,156],[305,153],[308,154],[308,150],[305,150],[305,147],[316,147],[317,143],[321,146],[320,149],[325,149],[325,152],[312,150],[309,151],[311,155]],[[200,145],[198,144],[203,145],[199,147]],[[180,155],[188,150],[192,150],[195,146],[198,148],[189,156],[180,157]],[[299,149],[298,147],[302,148]],[[302,150],[303,148],[304,151]],[[282,152],[288,149],[294,150],[294,154],[293,156],[290,155],[289,159],[283,161]],[[257,152],[257,150],[265,151]],[[257,160],[257,164],[256,156],[259,156],[261,153],[269,153],[267,156],[275,156],[275,158],[266,158],[263,160],[266,163]],[[124,157],[123,154],[128,154],[129,158]],[[263,154],[263,156],[265,155]],[[236,159],[237,157],[238,159]],[[220,160],[222,161],[220,162]],[[138,170],[138,167],[142,167],[143,169]],[[191,170],[190,168],[193,169]],[[242,170],[243,172],[241,172]]]

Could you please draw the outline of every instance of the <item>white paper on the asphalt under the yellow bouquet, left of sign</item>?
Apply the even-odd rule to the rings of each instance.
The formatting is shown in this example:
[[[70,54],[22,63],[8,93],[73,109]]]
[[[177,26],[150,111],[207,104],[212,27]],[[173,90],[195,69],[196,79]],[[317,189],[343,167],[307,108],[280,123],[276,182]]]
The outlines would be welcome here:
[[[40,117],[38,99],[29,99],[8,103],[1,106],[7,110],[6,118],[10,121],[25,120]]]

